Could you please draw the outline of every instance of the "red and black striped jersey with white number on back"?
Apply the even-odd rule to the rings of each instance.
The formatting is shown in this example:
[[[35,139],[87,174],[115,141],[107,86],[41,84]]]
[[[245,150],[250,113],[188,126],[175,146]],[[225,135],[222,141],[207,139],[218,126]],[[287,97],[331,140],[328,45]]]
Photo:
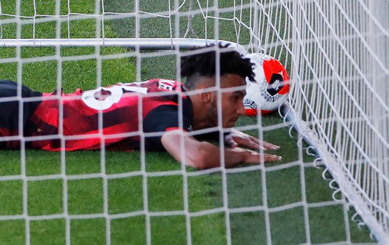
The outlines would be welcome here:
[[[31,136],[43,136],[33,141],[32,148],[61,150],[60,137],[65,136],[65,150],[113,150],[140,148],[145,134],[146,149],[163,149],[158,135],[179,128],[178,103],[182,96],[182,128],[192,130],[193,106],[182,95],[182,83],[152,79],[146,82],[117,83],[72,94],[56,92],[42,94],[30,120],[36,125]],[[51,136],[48,136],[51,135]]]

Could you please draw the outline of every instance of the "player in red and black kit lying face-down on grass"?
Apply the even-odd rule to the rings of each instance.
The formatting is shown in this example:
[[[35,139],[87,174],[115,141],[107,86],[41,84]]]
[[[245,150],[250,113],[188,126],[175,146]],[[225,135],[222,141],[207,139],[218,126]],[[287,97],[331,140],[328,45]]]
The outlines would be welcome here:
[[[219,45],[219,48],[220,87],[238,87],[223,92],[221,96],[222,126],[232,128],[239,116],[245,113],[242,100],[246,94],[246,78],[253,82],[255,80],[248,58],[227,46]],[[187,78],[185,85],[177,81],[152,79],[117,83],[86,92],[77,89],[73,94],[61,95],[57,92],[35,92],[22,85],[22,97],[30,97],[29,101],[23,102],[22,108],[23,136],[31,136],[26,138],[25,147],[50,151],[94,150],[102,146],[101,140],[104,138],[107,149],[136,150],[140,149],[141,144],[139,131],[143,131],[146,133],[146,150],[165,149],[179,162],[183,161],[183,150],[185,164],[189,166],[199,169],[220,166],[219,147],[209,142],[199,141],[188,133],[183,136],[184,149],[180,148],[180,133],[183,131],[218,125],[215,62],[215,51],[210,47],[204,52],[183,56],[181,77]],[[16,82],[0,81],[0,148],[20,147],[17,137],[1,139],[2,136],[19,133],[17,90]],[[195,90],[198,92],[189,93]],[[182,127],[179,127],[178,94],[182,96]],[[11,100],[6,97],[15,98]],[[142,103],[138,103],[140,98]],[[141,115],[138,115],[139,104]],[[100,130],[99,110],[102,112]],[[150,135],[152,132],[160,133],[159,136]],[[64,145],[61,145],[59,137],[62,134],[66,140]],[[260,147],[279,148],[233,129],[225,134],[225,142],[230,146],[224,149],[226,167],[237,163],[259,163]],[[281,157],[271,154],[264,154],[263,158],[265,162],[281,160]]]

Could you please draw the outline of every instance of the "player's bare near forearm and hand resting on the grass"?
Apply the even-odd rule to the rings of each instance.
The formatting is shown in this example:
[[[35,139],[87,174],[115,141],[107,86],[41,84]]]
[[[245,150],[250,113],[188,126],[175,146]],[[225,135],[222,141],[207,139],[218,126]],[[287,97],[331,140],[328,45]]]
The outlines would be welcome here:
[[[185,135],[184,149],[181,151],[180,130],[168,131],[162,135],[161,141],[165,149],[178,161],[199,169],[220,166],[220,149],[209,142],[198,141],[193,136]],[[183,155],[182,155],[183,152]],[[241,147],[224,149],[225,166],[233,167],[238,163],[260,163],[261,155],[258,152]],[[281,157],[264,154],[264,161],[280,161]]]

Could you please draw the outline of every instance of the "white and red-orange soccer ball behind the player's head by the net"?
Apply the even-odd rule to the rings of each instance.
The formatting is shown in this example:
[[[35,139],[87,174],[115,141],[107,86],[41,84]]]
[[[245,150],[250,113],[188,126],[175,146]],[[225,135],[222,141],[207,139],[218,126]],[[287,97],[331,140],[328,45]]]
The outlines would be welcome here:
[[[285,67],[275,58],[262,53],[246,55],[254,63],[256,83],[247,80],[243,105],[247,115],[269,114],[277,110],[288,98],[289,76]]]

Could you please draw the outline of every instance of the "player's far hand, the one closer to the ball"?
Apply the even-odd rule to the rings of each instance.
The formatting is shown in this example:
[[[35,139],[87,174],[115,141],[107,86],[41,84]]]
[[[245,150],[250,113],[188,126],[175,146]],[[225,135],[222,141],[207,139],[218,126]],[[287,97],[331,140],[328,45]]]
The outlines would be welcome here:
[[[247,133],[232,129],[230,134],[224,137],[224,140],[230,147],[249,147],[252,149],[278,150],[280,147],[261,141]]]

